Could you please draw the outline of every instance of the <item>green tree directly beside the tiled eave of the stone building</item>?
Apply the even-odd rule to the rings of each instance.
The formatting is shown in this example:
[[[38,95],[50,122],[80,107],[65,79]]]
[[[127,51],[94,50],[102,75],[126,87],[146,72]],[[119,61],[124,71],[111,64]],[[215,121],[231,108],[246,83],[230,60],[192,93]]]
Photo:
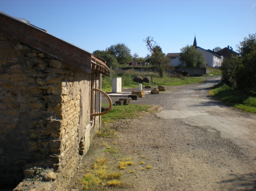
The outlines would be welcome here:
[[[104,50],[95,50],[93,51],[93,55],[106,60],[106,65],[110,68],[112,66],[113,69],[118,67],[117,60],[114,55],[108,53],[108,49]]]

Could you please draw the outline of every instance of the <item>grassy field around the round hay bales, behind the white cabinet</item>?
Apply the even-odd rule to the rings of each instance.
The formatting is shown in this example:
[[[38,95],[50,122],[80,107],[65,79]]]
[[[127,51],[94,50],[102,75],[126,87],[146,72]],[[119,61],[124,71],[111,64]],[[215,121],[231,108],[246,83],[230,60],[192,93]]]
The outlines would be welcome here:
[[[213,68],[214,70],[215,68]],[[217,69],[215,69],[217,70]],[[215,74],[215,73],[213,73]],[[198,83],[204,81],[202,78],[198,77],[185,77],[180,74],[165,74],[163,78],[159,76],[156,72],[135,72],[133,70],[128,70],[125,72],[120,72],[118,75],[113,74],[112,78],[121,77],[122,78],[122,87],[123,88],[137,88],[139,83],[136,83],[133,81],[135,76],[141,76],[142,78],[146,76],[151,76],[153,78],[153,81],[150,83],[142,83],[142,86],[145,87],[145,85],[149,86],[179,86],[179,85],[186,85],[189,83]],[[209,74],[207,75],[209,76]],[[101,82],[101,88],[105,92],[111,92],[112,91],[112,82],[110,81],[109,76],[102,76],[102,82]]]

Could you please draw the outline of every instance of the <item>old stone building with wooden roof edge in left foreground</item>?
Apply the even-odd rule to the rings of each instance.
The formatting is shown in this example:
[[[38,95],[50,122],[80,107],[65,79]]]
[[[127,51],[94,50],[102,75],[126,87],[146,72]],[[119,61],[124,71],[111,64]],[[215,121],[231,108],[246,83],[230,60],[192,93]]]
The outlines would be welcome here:
[[[0,188],[39,173],[67,186],[100,125],[101,74],[104,60],[0,12]]]

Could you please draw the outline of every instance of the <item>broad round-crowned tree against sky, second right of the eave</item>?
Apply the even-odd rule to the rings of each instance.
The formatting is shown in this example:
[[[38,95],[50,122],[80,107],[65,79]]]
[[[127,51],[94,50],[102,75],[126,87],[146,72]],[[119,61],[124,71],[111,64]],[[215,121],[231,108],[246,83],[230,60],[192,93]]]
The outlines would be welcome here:
[[[119,64],[132,61],[131,50],[124,43],[111,45],[108,48],[108,52],[115,56]]]

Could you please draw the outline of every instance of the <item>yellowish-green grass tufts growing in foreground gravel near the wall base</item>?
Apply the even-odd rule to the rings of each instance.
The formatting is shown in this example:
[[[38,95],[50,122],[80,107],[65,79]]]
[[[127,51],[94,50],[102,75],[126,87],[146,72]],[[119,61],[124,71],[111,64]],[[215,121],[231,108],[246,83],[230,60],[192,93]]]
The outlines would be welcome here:
[[[108,162],[104,157],[96,160],[92,172],[87,173],[79,180],[84,190],[98,190],[106,186],[119,186],[122,176],[120,172],[108,171]]]

